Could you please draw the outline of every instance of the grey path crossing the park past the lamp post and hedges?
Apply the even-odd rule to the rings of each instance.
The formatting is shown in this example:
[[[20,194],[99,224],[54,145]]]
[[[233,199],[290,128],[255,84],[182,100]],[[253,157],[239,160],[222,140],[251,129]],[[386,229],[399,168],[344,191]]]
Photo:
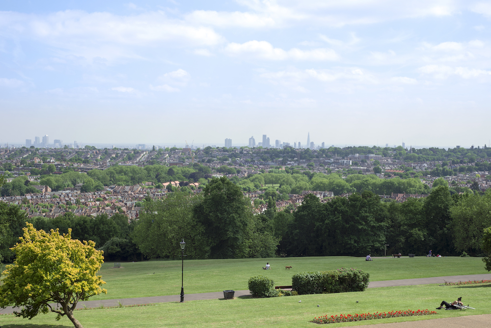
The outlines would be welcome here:
[[[368,288],[377,287],[391,287],[391,286],[409,286],[409,285],[425,285],[425,284],[437,284],[446,282],[458,282],[458,281],[468,281],[468,280],[483,280],[491,279],[491,273],[488,274],[467,274],[467,275],[450,275],[441,277],[430,277],[430,278],[416,278],[416,279],[401,279],[401,280],[383,280],[383,281],[371,281]],[[241,297],[249,295],[248,290],[235,291],[234,297]],[[213,292],[213,293],[199,293],[199,294],[187,294],[184,295],[184,301],[197,301],[197,300],[216,300],[223,299],[223,291]],[[88,307],[100,307],[104,305],[108,306],[118,306],[121,302],[123,305],[136,305],[136,304],[149,304],[149,303],[163,303],[163,302],[179,302],[181,301],[181,295],[168,295],[168,296],[151,296],[151,297],[136,297],[129,299],[117,299],[117,300],[99,300],[99,301],[80,301],[77,304],[77,308]],[[0,309],[0,314],[13,313],[14,308],[8,306],[4,309]],[[491,316],[491,315],[490,315]],[[437,319],[436,319],[437,320]],[[425,320],[425,322],[428,320]],[[386,325],[386,324],[384,324]],[[371,327],[374,327],[371,325]],[[385,328],[390,328],[389,326],[383,326]],[[431,327],[431,326],[425,326]],[[460,327],[471,327],[471,326],[460,326]],[[489,327],[483,326],[483,327]],[[433,327],[437,328],[437,327]],[[479,328],[479,327],[474,327]]]

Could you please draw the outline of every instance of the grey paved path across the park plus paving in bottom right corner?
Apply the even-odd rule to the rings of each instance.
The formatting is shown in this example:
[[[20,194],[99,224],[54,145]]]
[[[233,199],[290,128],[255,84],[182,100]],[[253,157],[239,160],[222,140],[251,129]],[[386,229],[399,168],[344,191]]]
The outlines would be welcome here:
[[[491,274],[468,274],[468,275],[451,275],[432,278],[416,278],[416,279],[401,279],[401,280],[384,280],[384,281],[372,281],[368,285],[368,288],[377,287],[391,287],[391,286],[409,286],[409,285],[425,285],[425,284],[437,284],[445,282],[458,282],[468,280],[483,280],[491,279]],[[235,291],[234,297],[249,295],[248,290]],[[197,300],[215,300],[223,299],[223,291],[214,293],[200,293],[200,294],[187,294],[184,295],[185,301],[197,301]],[[99,307],[104,306],[117,306],[118,302],[124,305],[135,304],[148,304],[148,303],[163,303],[163,302],[179,302],[181,301],[181,295],[170,296],[152,296],[152,297],[137,297],[130,299],[119,300],[99,300],[99,301],[81,301],[77,304],[77,308],[86,307]],[[5,309],[0,309],[0,314],[12,313],[13,307],[9,306]],[[429,319],[414,322],[401,322],[394,324],[377,324],[369,325],[371,328],[488,328],[491,326],[491,314],[465,316],[458,318],[440,318]],[[383,326],[382,326],[383,325]],[[357,326],[368,327],[368,326]]]

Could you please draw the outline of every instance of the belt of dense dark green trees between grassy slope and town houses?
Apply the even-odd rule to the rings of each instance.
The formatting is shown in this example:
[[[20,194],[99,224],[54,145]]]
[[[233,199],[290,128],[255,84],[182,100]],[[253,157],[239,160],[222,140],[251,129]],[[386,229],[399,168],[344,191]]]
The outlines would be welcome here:
[[[274,174],[261,177],[274,179]],[[359,181],[377,186],[370,184],[376,181],[371,178],[351,184]],[[178,258],[183,238],[189,258],[383,255],[384,244],[389,254],[424,255],[433,249],[442,255],[483,255],[483,229],[491,226],[491,191],[452,194],[441,183],[426,198],[398,203],[382,201],[368,187],[326,203],[309,194],[294,212],[293,207],[276,211],[269,196],[268,209],[255,215],[239,184],[214,178],[199,194],[175,191],[164,200],[147,197],[145,210],[132,222],[123,215],[26,219],[19,206],[0,203],[0,255],[7,262],[13,259],[8,248],[22,235],[26,221],[43,230],[71,228],[72,237],[95,241],[107,260]]]

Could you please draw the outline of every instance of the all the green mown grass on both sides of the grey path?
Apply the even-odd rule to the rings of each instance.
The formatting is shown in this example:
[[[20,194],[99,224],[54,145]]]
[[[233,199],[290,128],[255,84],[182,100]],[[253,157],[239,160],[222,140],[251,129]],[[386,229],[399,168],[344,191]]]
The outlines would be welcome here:
[[[270,262],[272,270],[261,268]],[[292,266],[285,270],[285,266]],[[185,260],[186,294],[247,289],[252,275],[262,274],[275,285],[290,285],[295,273],[359,268],[370,273],[370,280],[392,280],[488,273],[480,258],[376,258],[367,262],[356,257],[299,257],[271,259]],[[181,261],[105,263],[100,271],[107,281],[108,294],[97,299],[124,299],[157,295],[177,295],[181,288]],[[76,311],[76,318],[86,328],[157,328],[157,327],[317,327],[308,321],[322,315],[387,312],[391,310],[435,309],[442,300],[462,296],[465,304],[476,310],[439,310],[436,316],[406,317],[330,324],[328,327],[425,320],[448,316],[491,313],[491,284],[466,286],[401,286],[371,288],[365,292],[302,295],[272,299],[237,298],[234,300],[186,301],[159,303],[153,306],[92,309]],[[299,301],[301,300],[301,303]],[[359,303],[356,303],[359,301]],[[123,301],[124,303],[124,301]],[[317,305],[320,305],[317,307]],[[13,315],[0,316],[2,328],[73,327],[66,319],[55,321],[54,314],[38,315],[32,320]]]

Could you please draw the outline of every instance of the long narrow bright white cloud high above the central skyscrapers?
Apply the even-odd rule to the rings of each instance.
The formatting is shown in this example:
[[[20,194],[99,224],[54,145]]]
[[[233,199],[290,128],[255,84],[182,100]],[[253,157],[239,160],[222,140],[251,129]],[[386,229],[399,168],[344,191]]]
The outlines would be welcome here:
[[[245,43],[229,43],[225,47],[225,53],[233,56],[250,55],[255,58],[267,60],[337,60],[339,56],[335,51],[327,48],[318,48],[313,50],[303,51],[297,48],[292,48],[285,51],[281,48],[274,48],[267,41],[248,41]]]

